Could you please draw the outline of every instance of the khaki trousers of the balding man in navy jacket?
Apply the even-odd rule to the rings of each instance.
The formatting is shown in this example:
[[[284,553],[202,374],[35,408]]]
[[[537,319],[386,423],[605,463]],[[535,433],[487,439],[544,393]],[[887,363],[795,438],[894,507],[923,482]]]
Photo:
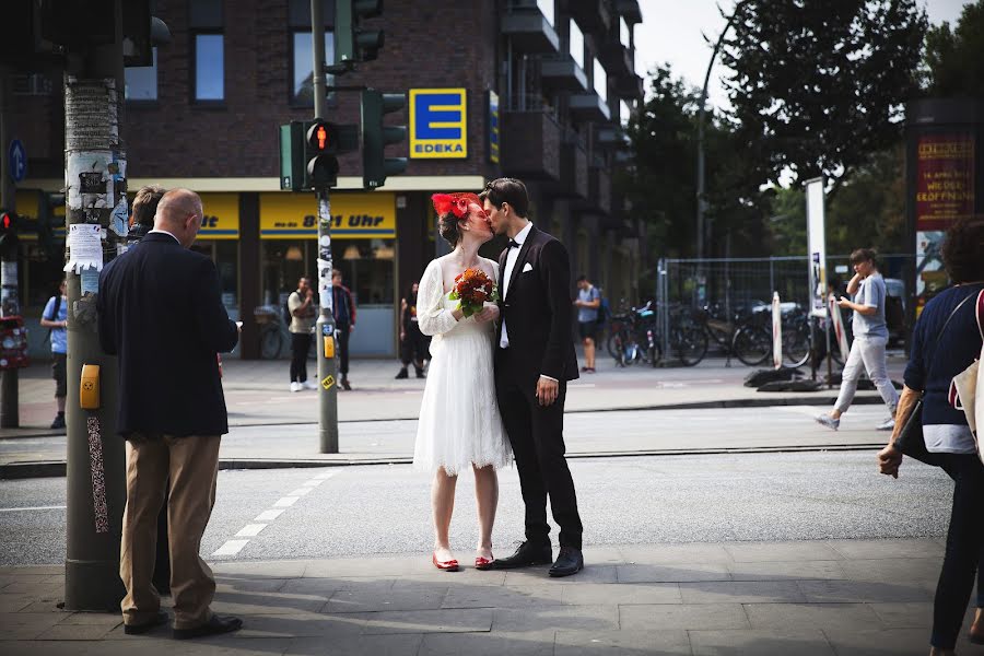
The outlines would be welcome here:
[[[143,624],[161,609],[151,578],[157,544],[157,515],[171,479],[167,536],[174,628],[191,629],[211,617],[215,579],[198,551],[215,503],[220,436],[145,437],[127,441],[127,507],[124,512],[119,576],[127,588],[120,607],[125,624]]]

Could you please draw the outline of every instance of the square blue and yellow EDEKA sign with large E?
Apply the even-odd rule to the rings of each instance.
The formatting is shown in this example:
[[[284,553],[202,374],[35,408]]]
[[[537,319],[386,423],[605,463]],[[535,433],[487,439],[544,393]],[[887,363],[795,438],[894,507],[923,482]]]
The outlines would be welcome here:
[[[464,89],[410,90],[410,157],[468,156],[468,105]]]

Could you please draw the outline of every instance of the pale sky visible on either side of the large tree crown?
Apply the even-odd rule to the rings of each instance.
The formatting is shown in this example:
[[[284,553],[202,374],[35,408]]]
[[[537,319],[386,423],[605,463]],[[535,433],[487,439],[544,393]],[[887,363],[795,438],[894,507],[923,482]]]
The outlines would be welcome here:
[[[918,3],[928,10],[934,25],[944,21],[953,25],[967,2],[918,0]],[[668,61],[676,75],[682,75],[693,86],[702,86],[713,42],[727,24],[718,5],[730,12],[735,0],[639,0],[639,5],[643,22],[635,27],[636,72],[645,78],[655,63]],[[727,105],[719,82],[723,71],[721,66],[711,71],[708,101],[718,107]]]

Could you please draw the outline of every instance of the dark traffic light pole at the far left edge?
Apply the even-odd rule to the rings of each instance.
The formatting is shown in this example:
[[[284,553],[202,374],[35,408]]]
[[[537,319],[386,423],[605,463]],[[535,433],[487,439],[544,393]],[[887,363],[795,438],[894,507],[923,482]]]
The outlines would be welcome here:
[[[4,209],[9,212],[15,212],[17,209],[16,187],[7,157],[7,147],[13,137],[12,93],[11,68],[0,67],[0,159],[2,159],[0,198],[3,199]],[[0,257],[2,257],[0,288],[3,290],[0,315],[5,314],[5,308],[11,308],[11,313],[16,315],[21,313],[17,302],[17,251],[15,248],[5,247]],[[5,368],[0,373],[0,429],[16,429],[21,425],[19,377],[17,370],[14,367]]]

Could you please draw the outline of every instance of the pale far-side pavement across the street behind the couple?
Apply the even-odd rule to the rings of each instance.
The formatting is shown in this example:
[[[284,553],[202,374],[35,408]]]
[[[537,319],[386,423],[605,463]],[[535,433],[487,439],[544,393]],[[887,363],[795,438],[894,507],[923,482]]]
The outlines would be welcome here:
[[[582,359],[583,361],[583,359]],[[315,391],[291,394],[289,362],[230,360],[224,363],[223,387],[230,425],[317,423]],[[889,375],[900,379],[905,361],[889,359]],[[613,409],[727,408],[777,405],[833,405],[836,389],[818,393],[759,393],[742,386],[752,367],[723,359],[707,359],[695,367],[653,368],[634,365],[619,368],[599,355],[597,374],[582,374],[567,387],[567,412]],[[417,419],[424,380],[395,380],[399,363],[394,360],[355,360],[349,374],[353,391],[339,393],[340,422]],[[805,370],[809,373],[809,370]],[[316,363],[308,363],[312,378]],[[825,373],[825,370],[824,372]],[[822,375],[822,373],[820,374]],[[412,373],[411,373],[412,376]],[[149,374],[149,379],[150,379]],[[54,383],[49,366],[38,363],[20,376],[20,429],[0,429],[0,440],[59,434],[48,426],[55,414]],[[860,391],[856,403],[881,402],[875,391]]]

